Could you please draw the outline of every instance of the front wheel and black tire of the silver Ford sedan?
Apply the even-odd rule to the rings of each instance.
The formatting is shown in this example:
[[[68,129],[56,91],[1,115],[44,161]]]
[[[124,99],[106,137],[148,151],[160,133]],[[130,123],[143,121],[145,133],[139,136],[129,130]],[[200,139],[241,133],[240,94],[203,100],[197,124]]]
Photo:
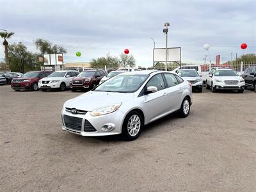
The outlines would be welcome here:
[[[140,125],[137,124],[137,126],[139,126],[139,129],[138,127],[136,127],[136,124],[134,124],[134,122],[132,121],[134,117],[135,117],[134,121],[136,120],[136,122],[138,122],[138,118],[140,118]],[[129,125],[130,125],[130,131],[128,131]],[[122,125],[122,137],[124,138],[124,140],[127,140],[127,141],[136,140],[140,136],[140,132],[141,132],[141,129],[143,128],[143,125],[144,125],[144,120],[138,111],[131,111],[130,113],[128,113],[128,115],[125,116],[125,120]],[[132,136],[132,134],[134,134],[134,136]]]

